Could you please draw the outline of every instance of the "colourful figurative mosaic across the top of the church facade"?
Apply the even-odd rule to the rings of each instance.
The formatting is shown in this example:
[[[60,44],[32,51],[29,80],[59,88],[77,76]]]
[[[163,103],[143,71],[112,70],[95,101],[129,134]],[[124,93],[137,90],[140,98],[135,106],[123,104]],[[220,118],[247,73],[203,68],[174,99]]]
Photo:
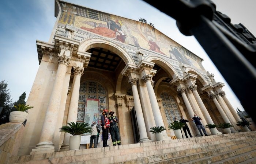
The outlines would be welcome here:
[[[61,24],[72,24],[83,30],[93,32],[132,46],[157,52],[167,58],[182,61],[198,69],[200,62],[184,47],[168,38],[147,23],[95,11],[93,9],[61,3]]]

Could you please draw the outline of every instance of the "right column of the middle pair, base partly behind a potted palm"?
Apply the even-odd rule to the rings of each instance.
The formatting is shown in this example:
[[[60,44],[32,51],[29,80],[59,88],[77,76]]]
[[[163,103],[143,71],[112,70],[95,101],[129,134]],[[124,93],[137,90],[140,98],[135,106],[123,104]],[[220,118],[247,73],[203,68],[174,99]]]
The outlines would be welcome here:
[[[159,106],[157,103],[157,98],[155,97],[154,89],[153,89],[152,83],[151,83],[152,75],[144,75],[141,79],[146,83],[146,86],[147,86],[148,96],[150,99],[150,104],[151,104],[152,112],[153,112],[154,119],[155,119],[155,125],[159,126],[159,127],[160,126],[165,127],[165,125],[163,124],[162,115],[161,115],[161,112],[159,110]],[[164,130],[162,132],[162,134],[163,134],[163,137],[168,137],[166,130]]]

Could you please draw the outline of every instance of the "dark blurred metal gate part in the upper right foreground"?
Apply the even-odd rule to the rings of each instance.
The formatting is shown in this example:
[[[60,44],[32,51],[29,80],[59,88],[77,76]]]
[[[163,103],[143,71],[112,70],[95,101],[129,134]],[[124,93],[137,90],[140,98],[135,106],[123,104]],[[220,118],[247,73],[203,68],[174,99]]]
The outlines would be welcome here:
[[[255,36],[241,23],[231,24],[230,18],[216,11],[216,5],[210,0],[172,0],[174,7],[171,9],[165,2],[143,1],[175,19],[182,34],[195,36],[245,111],[256,121],[253,114],[256,100]]]

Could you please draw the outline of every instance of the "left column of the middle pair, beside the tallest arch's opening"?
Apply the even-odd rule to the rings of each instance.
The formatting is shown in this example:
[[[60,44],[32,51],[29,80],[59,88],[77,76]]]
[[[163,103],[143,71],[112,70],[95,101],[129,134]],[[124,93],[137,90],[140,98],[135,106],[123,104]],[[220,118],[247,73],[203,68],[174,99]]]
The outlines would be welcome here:
[[[134,99],[136,115],[137,115],[137,118],[139,118],[137,120],[139,133],[140,133],[140,141],[139,142],[149,141],[149,139],[147,137],[147,130],[146,130],[145,122],[144,122],[143,112],[142,112],[142,108],[140,105],[139,93],[138,93],[138,89],[137,89],[138,79],[132,78],[132,79],[129,79],[128,82],[132,85],[132,94],[133,94],[133,99]]]

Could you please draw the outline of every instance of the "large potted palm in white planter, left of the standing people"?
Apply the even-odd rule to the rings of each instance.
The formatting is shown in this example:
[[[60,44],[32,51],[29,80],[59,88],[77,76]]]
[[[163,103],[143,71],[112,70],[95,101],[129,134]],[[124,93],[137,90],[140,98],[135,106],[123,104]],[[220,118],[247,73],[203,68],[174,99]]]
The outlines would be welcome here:
[[[91,126],[85,122],[68,122],[68,125],[62,126],[59,132],[69,133],[69,150],[80,148],[81,134],[91,133]]]

